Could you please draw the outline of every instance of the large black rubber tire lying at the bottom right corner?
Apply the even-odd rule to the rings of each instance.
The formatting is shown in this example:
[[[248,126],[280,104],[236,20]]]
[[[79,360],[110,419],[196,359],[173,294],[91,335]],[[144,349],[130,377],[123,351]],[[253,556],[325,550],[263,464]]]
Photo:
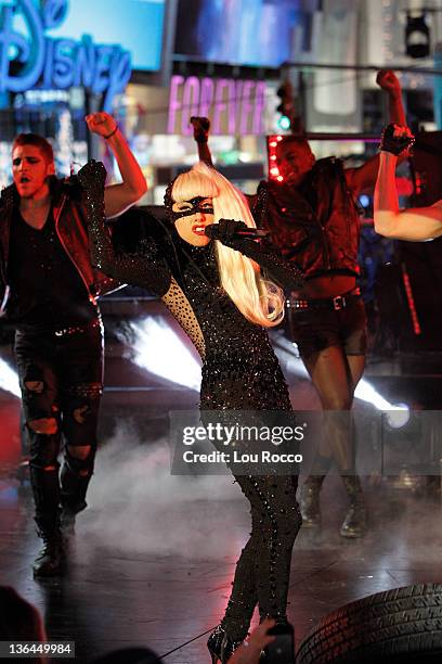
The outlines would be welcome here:
[[[442,584],[394,588],[341,606],[308,634],[296,662],[442,662]]]

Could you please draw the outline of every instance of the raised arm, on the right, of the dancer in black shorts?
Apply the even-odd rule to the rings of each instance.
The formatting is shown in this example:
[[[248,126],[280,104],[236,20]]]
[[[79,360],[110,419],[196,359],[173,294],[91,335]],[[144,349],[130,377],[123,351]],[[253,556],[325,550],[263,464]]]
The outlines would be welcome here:
[[[406,125],[405,110],[402,103],[401,84],[399,82],[394,72],[391,69],[382,69],[378,72],[376,82],[388,94],[389,122],[395,123],[396,125]],[[406,155],[402,158],[405,157]],[[359,195],[364,191],[373,191],[378,168],[379,155],[376,155],[367,159],[363,166],[360,166],[359,168],[348,168],[346,170],[347,183],[355,195]]]

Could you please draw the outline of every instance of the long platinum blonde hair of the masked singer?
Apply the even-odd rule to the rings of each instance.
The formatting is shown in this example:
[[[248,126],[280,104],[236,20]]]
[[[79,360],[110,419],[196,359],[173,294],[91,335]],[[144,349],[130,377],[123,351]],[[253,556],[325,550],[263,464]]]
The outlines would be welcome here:
[[[220,219],[244,221],[256,228],[244,194],[220,173],[203,162],[178,176],[172,192],[176,203],[195,196],[213,199],[213,222]],[[258,325],[272,328],[284,318],[284,294],[272,281],[261,277],[256,264],[239,252],[216,240],[216,257],[221,285],[239,311]]]

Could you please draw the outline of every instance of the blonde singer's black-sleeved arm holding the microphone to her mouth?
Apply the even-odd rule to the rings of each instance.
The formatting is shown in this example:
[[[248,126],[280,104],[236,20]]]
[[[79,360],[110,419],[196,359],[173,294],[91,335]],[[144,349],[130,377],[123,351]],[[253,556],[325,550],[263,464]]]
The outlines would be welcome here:
[[[225,246],[240,252],[244,256],[257,263],[269,273],[272,281],[290,290],[303,285],[302,272],[292,260],[283,258],[277,248],[268,240],[256,241],[240,237],[237,234],[238,230],[250,230],[250,228],[244,221],[235,221],[234,219],[220,219],[219,224],[206,227],[207,234],[210,238],[219,240]]]

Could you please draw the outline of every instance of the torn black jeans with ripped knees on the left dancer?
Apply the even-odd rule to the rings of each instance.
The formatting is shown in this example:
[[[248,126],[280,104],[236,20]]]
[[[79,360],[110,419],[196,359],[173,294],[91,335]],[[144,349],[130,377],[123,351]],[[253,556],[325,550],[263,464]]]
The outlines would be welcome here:
[[[60,503],[74,513],[87,505],[103,391],[101,320],[70,328],[64,334],[17,331],[15,355],[30,443],[36,520],[40,529],[51,531],[57,522]],[[55,433],[37,433],[29,426],[35,420],[47,419],[55,420]],[[65,460],[60,477],[62,437]],[[78,459],[69,455],[67,446],[91,449],[86,459]]]

